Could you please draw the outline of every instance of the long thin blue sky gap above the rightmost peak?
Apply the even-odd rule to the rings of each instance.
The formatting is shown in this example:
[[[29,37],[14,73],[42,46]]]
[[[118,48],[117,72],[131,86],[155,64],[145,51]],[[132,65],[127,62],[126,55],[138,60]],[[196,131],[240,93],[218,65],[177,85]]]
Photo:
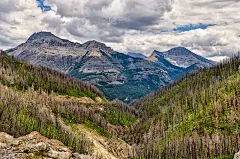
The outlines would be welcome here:
[[[180,32],[185,32],[185,31],[190,31],[190,30],[196,30],[196,29],[207,29],[209,26],[214,26],[215,24],[198,24],[198,25],[182,25],[177,28],[174,28],[173,31],[180,31]]]

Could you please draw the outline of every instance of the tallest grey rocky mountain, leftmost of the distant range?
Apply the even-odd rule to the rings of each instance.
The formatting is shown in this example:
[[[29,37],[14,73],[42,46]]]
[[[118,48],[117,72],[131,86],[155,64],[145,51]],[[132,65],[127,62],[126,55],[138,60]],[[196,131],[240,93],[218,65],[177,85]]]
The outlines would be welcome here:
[[[50,32],[34,33],[26,43],[10,49],[14,57],[32,64],[68,72],[86,50],[81,44],[60,39]]]

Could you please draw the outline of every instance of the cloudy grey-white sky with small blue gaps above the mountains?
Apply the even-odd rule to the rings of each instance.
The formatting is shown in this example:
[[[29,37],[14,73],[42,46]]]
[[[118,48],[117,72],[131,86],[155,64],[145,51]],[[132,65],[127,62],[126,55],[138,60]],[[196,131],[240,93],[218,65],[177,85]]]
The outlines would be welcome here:
[[[0,0],[0,49],[49,31],[114,50],[186,47],[220,61],[240,50],[240,0]]]

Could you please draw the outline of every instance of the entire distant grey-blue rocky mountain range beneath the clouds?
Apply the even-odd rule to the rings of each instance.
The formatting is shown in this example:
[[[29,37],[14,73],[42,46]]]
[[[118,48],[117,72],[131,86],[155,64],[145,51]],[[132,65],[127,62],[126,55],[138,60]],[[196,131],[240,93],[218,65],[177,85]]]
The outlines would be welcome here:
[[[108,99],[125,102],[164,87],[193,69],[215,65],[183,47],[154,51],[150,57],[126,55],[97,41],[74,43],[50,32],[35,33],[8,53],[95,84]]]

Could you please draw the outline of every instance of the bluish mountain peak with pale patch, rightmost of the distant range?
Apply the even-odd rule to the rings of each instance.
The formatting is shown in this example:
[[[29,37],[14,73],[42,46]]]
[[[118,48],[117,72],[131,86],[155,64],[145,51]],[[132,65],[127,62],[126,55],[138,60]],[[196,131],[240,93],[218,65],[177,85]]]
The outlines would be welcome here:
[[[184,47],[176,47],[166,52],[154,51],[148,59],[155,60],[155,62],[157,62],[157,59],[154,58],[156,55],[158,56],[156,58],[159,58],[160,56],[169,61],[171,64],[182,68],[188,68],[196,64],[199,68],[216,65],[215,62],[196,55]]]

